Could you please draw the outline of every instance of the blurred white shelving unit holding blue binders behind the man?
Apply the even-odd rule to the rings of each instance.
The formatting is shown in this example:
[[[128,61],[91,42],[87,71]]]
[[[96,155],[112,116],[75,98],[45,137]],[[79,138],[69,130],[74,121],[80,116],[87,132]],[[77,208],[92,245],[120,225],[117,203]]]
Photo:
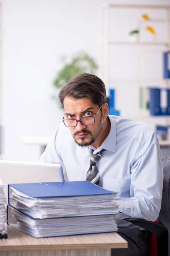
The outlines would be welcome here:
[[[155,27],[157,24],[159,24],[160,26],[164,26],[164,38],[159,38],[159,41],[147,41],[147,40],[142,40],[143,38],[141,37],[141,30],[142,30],[142,26],[144,27],[144,25],[146,26],[147,21],[142,20],[142,18],[139,18],[139,21],[136,21],[137,27],[136,29],[139,30],[139,33],[137,35],[136,41],[123,41],[123,40],[119,40],[118,37],[114,38],[114,39],[110,39],[111,36],[111,29],[114,28],[114,26],[121,26],[122,23],[126,20],[122,20],[122,23],[114,23],[111,22],[111,10],[114,10],[114,14],[118,15],[118,12],[120,13],[120,16],[122,13],[127,13],[127,15],[129,14],[129,12],[131,10],[133,10],[133,12],[137,12],[137,13],[147,13],[148,15],[150,13],[164,13],[164,15],[160,15],[163,16],[164,18],[160,18],[158,15],[158,18],[151,18],[150,16],[150,20],[149,20],[149,24],[151,24],[150,26]],[[115,12],[116,10],[116,12]],[[145,108],[140,108],[139,107],[139,103],[137,104],[137,102],[140,102],[140,93],[139,93],[139,88],[140,87],[147,87],[148,84],[153,84],[153,85],[158,85],[162,84],[162,87],[166,87],[166,88],[170,88],[170,79],[163,79],[160,78],[156,78],[154,77],[154,75],[157,74],[153,74],[151,78],[148,78],[145,76],[145,72],[144,69],[142,69],[142,61],[143,61],[143,57],[146,56],[146,49],[148,49],[148,47],[154,49],[153,52],[157,50],[159,50],[159,54],[162,54],[163,51],[168,51],[170,50],[170,5],[169,6],[164,6],[164,5],[159,5],[159,6],[155,6],[155,5],[127,5],[127,4],[104,4],[101,6],[101,10],[100,10],[100,31],[101,31],[101,38],[100,38],[100,54],[99,54],[99,77],[105,82],[106,85],[106,91],[108,94],[108,90],[112,87],[116,89],[116,103],[117,103],[117,95],[119,94],[119,107],[117,108],[117,104],[116,104],[116,109],[119,109],[121,111],[121,115],[131,118],[131,119],[136,119],[142,122],[145,122],[149,125],[151,125],[153,128],[156,127],[156,125],[170,125],[170,116],[150,116],[149,111]],[[137,14],[136,14],[137,15]],[[121,17],[120,17],[121,19]],[[125,21],[126,22],[126,21]],[[124,24],[124,23],[123,23]],[[125,24],[125,28],[126,28],[126,24]],[[115,30],[114,30],[115,31]],[[163,30],[161,30],[163,31]],[[127,31],[128,33],[129,31]],[[137,76],[135,79],[130,79],[130,78],[126,78],[124,77],[124,74],[122,73],[121,77],[116,77],[114,78],[114,75],[112,76],[112,78],[110,77],[111,75],[111,70],[113,71],[115,67],[111,66],[111,58],[114,58],[114,55],[111,55],[111,49],[115,49],[116,51],[119,50],[120,55],[121,55],[121,50],[123,49],[123,47],[133,47],[133,49],[136,50],[136,59],[137,59]],[[128,49],[132,49],[132,48],[128,48]],[[164,49],[164,50],[162,50]],[[161,56],[161,55],[160,55]],[[125,58],[129,57],[129,56],[124,56]],[[154,58],[153,58],[154,59]],[[153,61],[153,60],[152,60]],[[113,61],[113,64],[115,64],[115,62]],[[154,61],[153,61],[153,65],[154,65]],[[119,65],[119,61],[118,64]],[[120,66],[121,69],[121,66]],[[117,67],[117,70],[119,71],[119,67]],[[138,97],[138,99],[134,99],[136,100],[136,105],[134,103],[134,108],[136,108],[135,106],[138,105],[138,113],[133,113],[133,99],[131,99],[130,102],[130,107],[129,109],[132,109],[132,113],[130,113],[130,111],[128,112],[128,110],[125,110],[124,113],[126,112],[127,114],[122,114],[122,109],[120,107],[120,105],[122,104],[122,106],[125,106],[125,102],[123,102],[123,99],[121,99],[122,96],[120,96],[120,94],[122,93],[127,93],[127,98],[128,98],[128,92],[127,92],[127,87],[129,86],[129,84],[133,84],[133,89],[136,87],[135,89],[135,93],[134,95],[136,95],[135,97]],[[116,86],[115,86],[116,84]],[[127,87],[126,87],[127,85]],[[125,89],[126,87],[126,89]],[[155,86],[154,86],[155,87]],[[161,87],[161,86],[160,86]],[[122,88],[121,90],[119,88]],[[119,90],[119,93],[117,93],[117,89]],[[125,92],[124,92],[125,89]],[[129,94],[131,93],[130,90],[133,90],[132,87],[129,87]],[[120,93],[121,91],[121,93]],[[138,96],[137,96],[138,94]],[[125,99],[125,97],[124,97]],[[121,102],[122,100],[122,102]],[[162,100],[163,102],[163,100]],[[127,102],[126,102],[127,104]],[[127,106],[128,107],[128,106]],[[125,108],[125,107],[124,107]],[[136,111],[137,112],[137,111]],[[170,145],[170,134],[169,134],[169,140],[164,142],[164,141],[160,141],[160,144],[163,145]]]

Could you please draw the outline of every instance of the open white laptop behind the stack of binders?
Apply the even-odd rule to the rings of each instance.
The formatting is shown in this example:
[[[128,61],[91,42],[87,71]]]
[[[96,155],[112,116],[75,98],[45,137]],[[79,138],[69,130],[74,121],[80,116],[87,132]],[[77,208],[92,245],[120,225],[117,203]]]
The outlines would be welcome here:
[[[64,181],[64,176],[59,164],[0,160],[0,179],[7,199],[8,184]]]

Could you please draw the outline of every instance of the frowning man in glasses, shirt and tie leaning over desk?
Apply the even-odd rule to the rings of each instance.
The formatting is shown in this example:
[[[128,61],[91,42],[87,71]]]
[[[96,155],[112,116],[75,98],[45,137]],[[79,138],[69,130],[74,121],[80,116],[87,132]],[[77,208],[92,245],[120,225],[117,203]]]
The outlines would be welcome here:
[[[143,123],[108,115],[105,84],[97,76],[71,79],[59,99],[63,122],[40,162],[60,163],[65,180],[90,180],[119,192],[116,221],[128,249],[113,249],[112,255],[147,256],[147,232],[123,219],[159,216],[163,170],[156,134]]]

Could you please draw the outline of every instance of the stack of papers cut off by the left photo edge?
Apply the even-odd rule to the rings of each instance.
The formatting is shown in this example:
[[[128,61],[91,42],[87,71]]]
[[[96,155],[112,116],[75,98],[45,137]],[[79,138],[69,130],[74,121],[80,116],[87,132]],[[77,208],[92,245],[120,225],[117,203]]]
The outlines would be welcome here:
[[[6,223],[6,198],[3,192],[4,184],[0,180],[0,239],[7,238]]]

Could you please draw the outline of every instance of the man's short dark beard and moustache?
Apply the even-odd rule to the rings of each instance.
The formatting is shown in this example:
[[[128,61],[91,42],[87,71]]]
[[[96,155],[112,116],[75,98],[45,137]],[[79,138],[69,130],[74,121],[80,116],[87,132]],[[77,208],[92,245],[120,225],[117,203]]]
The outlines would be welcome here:
[[[87,147],[91,144],[93,144],[95,142],[95,140],[97,139],[97,137],[99,136],[100,132],[102,130],[102,118],[100,119],[99,121],[99,126],[98,126],[98,129],[96,131],[95,134],[92,134],[91,131],[88,131],[88,130],[82,130],[82,131],[77,131],[75,134],[74,134],[74,140],[75,142],[81,146],[81,147]],[[87,133],[88,135],[90,135],[90,138],[87,140],[86,138],[79,138],[79,141],[76,140],[76,135],[77,134],[80,134],[80,133]]]

